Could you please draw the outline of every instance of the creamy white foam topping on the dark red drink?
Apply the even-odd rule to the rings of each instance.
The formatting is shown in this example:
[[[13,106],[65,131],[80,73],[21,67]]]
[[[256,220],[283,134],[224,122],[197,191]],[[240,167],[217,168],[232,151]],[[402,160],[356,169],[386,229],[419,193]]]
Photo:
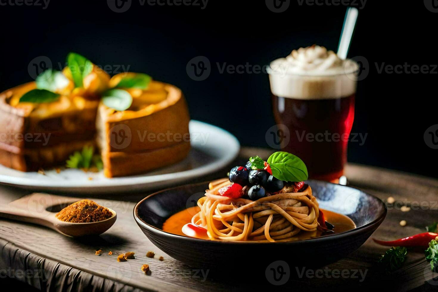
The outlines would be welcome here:
[[[294,99],[333,99],[356,91],[357,63],[341,60],[323,46],[293,50],[270,64],[273,94]]]

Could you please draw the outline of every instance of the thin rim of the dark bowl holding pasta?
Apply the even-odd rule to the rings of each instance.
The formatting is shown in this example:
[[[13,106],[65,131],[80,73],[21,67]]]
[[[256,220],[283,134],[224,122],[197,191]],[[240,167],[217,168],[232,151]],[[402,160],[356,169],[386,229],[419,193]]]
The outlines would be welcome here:
[[[322,182],[322,183],[326,183],[326,184],[332,184],[332,185],[336,185],[336,186],[343,186],[343,185],[339,185],[339,184],[336,184],[336,183],[330,183],[330,182],[325,182],[325,181],[316,180],[316,179],[313,179],[313,180],[318,181],[318,182]],[[174,187],[170,187],[170,188],[167,188],[167,189],[164,189],[164,190],[159,190],[159,191],[156,191],[155,193],[149,194],[148,196],[143,198],[141,201],[139,201],[137,204],[135,204],[135,207],[133,209],[133,215],[134,215],[135,222],[137,222],[137,224],[138,224],[138,226],[140,228],[147,229],[150,232],[153,232],[153,233],[156,233],[156,234],[159,234],[159,235],[162,235],[162,236],[167,236],[167,237],[170,237],[170,238],[178,238],[178,239],[181,239],[181,240],[187,240],[189,242],[198,242],[198,243],[205,243],[205,244],[271,244],[271,245],[272,244],[276,244],[276,245],[295,244],[295,245],[298,245],[298,244],[308,243],[309,240],[312,243],[318,243],[318,242],[321,242],[321,241],[326,241],[327,238],[332,238],[332,239],[344,238],[344,237],[347,237],[347,236],[351,236],[353,234],[357,234],[357,233],[361,233],[361,232],[366,232],[367,230],[372,229],[375,225],[377,225],[377,227],[378,227],[381,224],[381,222],[383,222],[383,220],[385,220],[386,214],[388,212],[388,208],[386,207],[386,204],[380,198],[378,198],[378,197],[376,197],[376,196],[374,196],[374,195],[372,195],[370,193],[364,192],[363,190],[360,190],[358,188],[355,188],[355,187],[352,187],[352,186],[345,186],[347,188],[355,189],[355,190],[358,190],[358,191],[360,191],[362,193],[365,193],[367,196],[373,197],[375,200],[378,201],[378,203],[381,206],[383,206],[383,212],[376,219],[374,219],[373,221],[371,221],[371,222],[369,222],[369,223],[367,223],[367,224],[365,224],[363,226],[356,227],[355,229],[351,229],[351,230],[347,230],[347,231],[340,232],[340,233],[335,233],[335,234],[327,234],[327,235],[318,236],[318,237],[314,237],[314,238],[308,238],[308,239],[302,239],[302,240],[296,240],[296,241],[290,241],[290,242],[273,242],[273,243],[272,242],[259,242],[259,241],[208,240],[208,239],[199,239],[199,238],[194,238],[194,237],[177,235],[177,234],[169,233],[169,232],[166,232],[166,231],[164,231],[162,229],[156,228],[155,226],[152,226],[152,225],[144,222],[137,215],[138,207],[145,200],[147,200],[150,197],[159,195],[160,193],[164,193],[166,191],[179,189],[180,187],[183,187],[183,186],[199,186],[199,185],[207,185],[208,186],[208,183],[209,183],[209,181],[201,182],[201,183],[188,183],[186,185],[174,186]]]

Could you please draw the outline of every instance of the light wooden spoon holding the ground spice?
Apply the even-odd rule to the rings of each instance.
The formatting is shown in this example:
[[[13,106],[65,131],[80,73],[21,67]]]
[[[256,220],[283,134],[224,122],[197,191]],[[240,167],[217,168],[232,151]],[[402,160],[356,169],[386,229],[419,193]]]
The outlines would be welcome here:
[[[99,235],[116,222],[117,214],[109,209],[113,216],[99,222],[71,223],[59,220],[57,212],[49,212],[54,206],[60,211],[68,205],[80,201],[80,198],[61,197],[46,193],[32,193],[8,204],[0,204],[0,216],[18,221],[43,225],[67,236]]]

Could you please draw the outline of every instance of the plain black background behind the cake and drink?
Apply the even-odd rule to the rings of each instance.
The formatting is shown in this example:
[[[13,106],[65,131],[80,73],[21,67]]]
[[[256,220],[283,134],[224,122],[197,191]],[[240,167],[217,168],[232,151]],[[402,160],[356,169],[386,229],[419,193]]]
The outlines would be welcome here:
[[[282,13],[270,11],[265,1],[210,0],[201,9],[141,6],[132,0],[124,13],[111,11],[105,0],[51,0],[46,9],[2,5],[0,90],[31,81],[27,68],[35,57],[47,56],[59,69],[57,63],[64,65],[67,53],[75,51],[113,70],[130,66],[129,71],[175,84],[186,95],[193,119],[229,130],[242,145],[267,147],[265,132],[275,124],[268,76],[220,74],[216,62],[262,66],[314,43],[336,51],[346,6],[298,3],[291,0]],[[379,74],[375,64],[433,69],[437,20],[438,13],[423,1],[369,0],[360,9],[349,57],[364,56],[368,75],[358,84],[352,132],[368,136],[362,146],[349,144],[350,162],[437,176],[438,150],[429,148],[423,135],[438,123],[438,69],[435,74]],[[204,81],[186,72],[196,56],[211,62]]]

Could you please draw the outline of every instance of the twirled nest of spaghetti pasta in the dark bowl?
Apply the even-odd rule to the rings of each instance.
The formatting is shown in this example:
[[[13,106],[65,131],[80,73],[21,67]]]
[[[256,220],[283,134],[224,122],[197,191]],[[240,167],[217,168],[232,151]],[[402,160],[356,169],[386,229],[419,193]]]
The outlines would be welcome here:
[[[209,239],[286,242],[317,230],[319,207],[310,186],[251,201],[220,196],[219,189],[229,184],[228,179],[211,182],[198,200],[200,211],[191,223],[207,229]]]

